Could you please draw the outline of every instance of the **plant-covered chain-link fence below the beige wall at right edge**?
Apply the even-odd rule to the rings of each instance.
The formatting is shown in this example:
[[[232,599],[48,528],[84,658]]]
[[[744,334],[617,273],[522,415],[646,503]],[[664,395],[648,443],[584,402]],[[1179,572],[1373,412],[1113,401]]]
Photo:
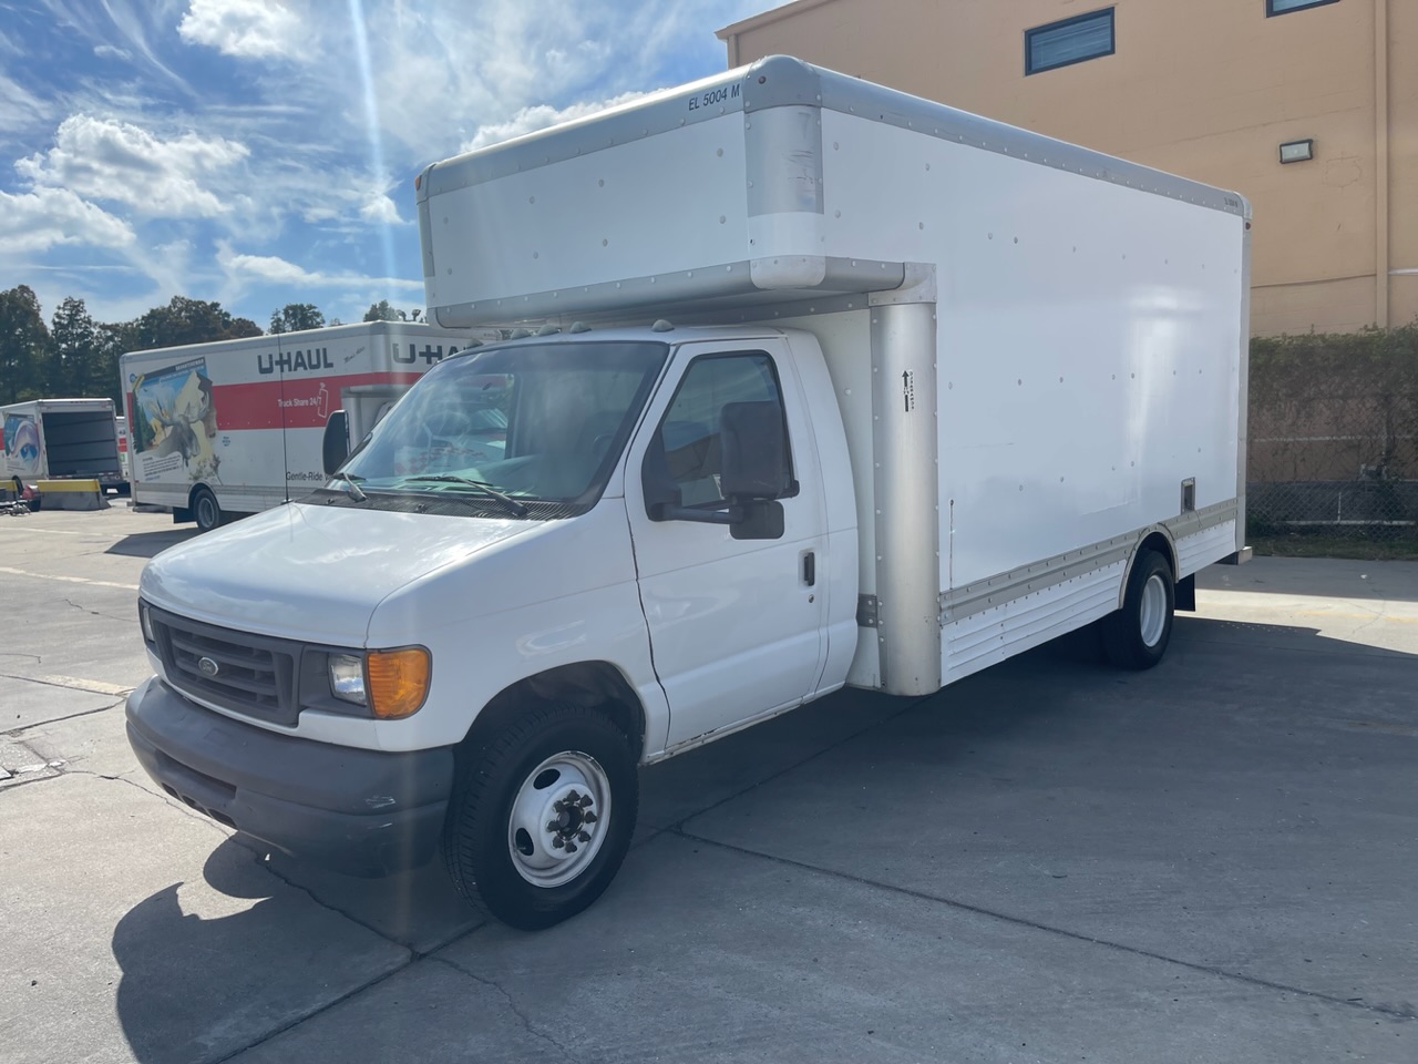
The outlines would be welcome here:
[[[1251,343],[1248,533],[1418,539],[1418,325]]]

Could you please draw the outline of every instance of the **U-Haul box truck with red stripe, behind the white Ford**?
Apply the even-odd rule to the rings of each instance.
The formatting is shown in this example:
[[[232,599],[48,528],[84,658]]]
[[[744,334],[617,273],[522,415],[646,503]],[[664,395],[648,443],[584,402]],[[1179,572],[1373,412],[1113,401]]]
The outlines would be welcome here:
[[[206,532],[325,481],[320,447],[343,410],[362,440],[468,332],[364,322],[182,348],[119,360],[135,505],[164,506]]]

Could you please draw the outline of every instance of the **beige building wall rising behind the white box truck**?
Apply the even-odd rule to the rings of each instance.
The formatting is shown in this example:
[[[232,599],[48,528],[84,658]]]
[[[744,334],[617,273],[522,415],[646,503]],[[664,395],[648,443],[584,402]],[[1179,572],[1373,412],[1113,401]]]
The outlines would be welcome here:
[[[1024,31],[1115,9],[1113,55],[1024,74]],[[1252,331],[1418,315],[1418,0],[797,0],[719,35],[1245,194]],[[1314,159],[1280,165],[1282,140]],[[1404,272],[1411,270],[1414,272]]]

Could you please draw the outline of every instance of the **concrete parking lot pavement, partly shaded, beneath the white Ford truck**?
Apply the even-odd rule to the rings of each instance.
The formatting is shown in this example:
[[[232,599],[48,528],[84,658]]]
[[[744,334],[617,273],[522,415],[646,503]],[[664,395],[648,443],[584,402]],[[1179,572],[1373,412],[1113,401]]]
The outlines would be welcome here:
[[[7,1061],[1418,1060],[1415,563],[1214,567],[1151,672],[1078,637],[666,762],[526,935],[155,792],[121,692],[187,535],[0,519]]]

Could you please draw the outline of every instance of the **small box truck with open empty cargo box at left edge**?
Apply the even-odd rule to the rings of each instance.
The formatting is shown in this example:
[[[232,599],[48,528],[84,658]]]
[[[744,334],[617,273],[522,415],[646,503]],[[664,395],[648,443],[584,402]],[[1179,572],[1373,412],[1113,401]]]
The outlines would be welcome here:
[[[0,407],[0,481],[23,494],[40,481],[126,482],[112,399],[35,399]]]

